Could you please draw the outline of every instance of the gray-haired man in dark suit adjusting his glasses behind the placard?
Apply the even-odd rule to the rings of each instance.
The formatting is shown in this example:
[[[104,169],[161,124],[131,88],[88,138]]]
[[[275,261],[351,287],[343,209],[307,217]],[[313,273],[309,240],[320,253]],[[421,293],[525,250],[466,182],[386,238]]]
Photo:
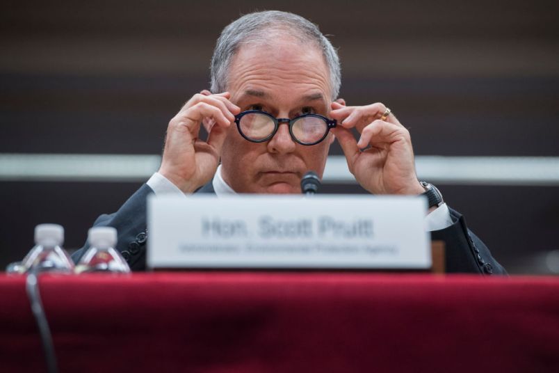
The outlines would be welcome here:
[[[211,92],[194,95],[170,120],[159,172],[95,225],[117,228],[118,250],[144,269],[149,193],[300,193],[308,170],[322,177],[337,139],[370,193],[428,193],[426,227],[446,242],[448,271],[505,273],[437,189],[417,180],[410,133],[394,113],[382,103],[347,106],[340,84],[336,50],[307,19],[278,11],[237,19],[214,50]],[[207,141],[198,138],[201,124]]]

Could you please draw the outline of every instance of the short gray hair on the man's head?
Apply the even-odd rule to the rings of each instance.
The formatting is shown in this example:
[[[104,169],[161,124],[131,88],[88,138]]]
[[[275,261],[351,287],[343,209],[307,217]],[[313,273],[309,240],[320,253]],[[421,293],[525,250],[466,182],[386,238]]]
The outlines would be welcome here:
[[[330,40],[318,29],[316,24],[293,13],[267,10],[265,12],[243,15],[223,29],[216,49],[211,58],[211,91],[224,92],[231,61],[241,47],[251,42],[266,42],[270,31],[280,31],[291,35],[306,44],[311,43],[322,51],[328,70],[332,100],[338,97],[341,85],[341,68],[338,53]]]

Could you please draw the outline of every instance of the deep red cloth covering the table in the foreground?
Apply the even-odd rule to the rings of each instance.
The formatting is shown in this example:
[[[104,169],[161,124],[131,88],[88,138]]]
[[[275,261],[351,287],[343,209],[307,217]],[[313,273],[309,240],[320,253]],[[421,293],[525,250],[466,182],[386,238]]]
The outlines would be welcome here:
[[[60,372],[559,372],[559,279],[371,273],[40,277]],[[45,371],[0,276],[0,371]]]

